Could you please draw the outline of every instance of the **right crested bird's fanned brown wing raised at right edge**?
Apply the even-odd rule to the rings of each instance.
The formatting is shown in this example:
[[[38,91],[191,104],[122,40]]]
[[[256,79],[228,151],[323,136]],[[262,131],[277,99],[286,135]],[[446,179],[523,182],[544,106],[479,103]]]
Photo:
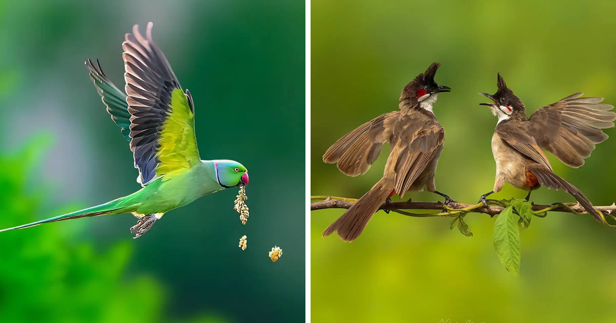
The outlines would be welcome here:
[[[595,144],[607,139],[601,129],[614,127],[616,113],[603,98],[569,95],[535,111],[529,119],[537,144],[570,167],[580,167]]]

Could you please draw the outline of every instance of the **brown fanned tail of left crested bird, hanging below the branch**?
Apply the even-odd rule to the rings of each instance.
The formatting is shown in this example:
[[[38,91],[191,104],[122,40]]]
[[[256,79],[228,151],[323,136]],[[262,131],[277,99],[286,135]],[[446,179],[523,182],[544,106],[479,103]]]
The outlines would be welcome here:
[[[362,234],[372,215],[376,213],[387,196],[391,193],[393,185],[387,185],[387,180],[381,178],[375,186],[372,186],[368,193],[364,194],[359,201],[355,202],[342,217],[331,223],[325,229],[323,237],[329,236],[334,231],[338,231],[338,236],[347,242],[354,241]]]

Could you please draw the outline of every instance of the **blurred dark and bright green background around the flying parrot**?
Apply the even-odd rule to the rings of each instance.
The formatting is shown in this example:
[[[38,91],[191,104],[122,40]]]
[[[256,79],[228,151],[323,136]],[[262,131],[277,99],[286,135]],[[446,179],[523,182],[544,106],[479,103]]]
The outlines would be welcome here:
[[[2,233],[0,321],[304,321],[303,2],[0,0],[0,227],[140,188],[84,61],[123,87],[124,33],[149,21],[195,100],[201,157],[250,170],[251,217],[229,189],[137,240],[132,215]]]

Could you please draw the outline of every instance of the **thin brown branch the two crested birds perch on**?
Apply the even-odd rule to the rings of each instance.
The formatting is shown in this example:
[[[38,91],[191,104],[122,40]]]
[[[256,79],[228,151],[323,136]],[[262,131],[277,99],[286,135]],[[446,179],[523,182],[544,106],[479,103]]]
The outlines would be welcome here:
[[[349,199],[346,197],[333,197],[333,196],[310,196],[310,199],[318,199],[322,201],[310,202],[310,210],[323,210],[323,209],[349,209],[357,199]],[[392,212],[407,215],[409,217],[444,217],[448,215],[454,215],[458,213],[474,212],[485,213],[493,217],[505,209],[505,206],[500,201],[488,200],[488,204],[485,207],[483,204],[464,204],[452,202],[449,205],[444,205],[443,202],[385,202],[379,210],[391,210]],[[612,211],[616,210],[616,204],[608,206],[596,206],[596,210],[601,211],[604,215],[608,215],[616,220],[616,217],[611,215]],[[435,213],[410,213],[400,210],[445,210],[446,212]],[[556,203],[552,205],[540,205],[534,204],[533,211],[537,213],[543,213],[548,211],[555,212],[568,212],[575,214],[588,214],[582,205],[578,203]],[[612,226],[612,225],[610,225]]]

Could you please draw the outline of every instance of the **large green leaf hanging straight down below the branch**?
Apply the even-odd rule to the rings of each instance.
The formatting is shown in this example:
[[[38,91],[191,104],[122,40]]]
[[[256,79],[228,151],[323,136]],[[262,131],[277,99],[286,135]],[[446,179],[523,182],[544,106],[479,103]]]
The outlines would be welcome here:
[[[494,222],[494,249],[501,263],[516,276],[520,274],[520,229],[513,206],[508,206]]]

